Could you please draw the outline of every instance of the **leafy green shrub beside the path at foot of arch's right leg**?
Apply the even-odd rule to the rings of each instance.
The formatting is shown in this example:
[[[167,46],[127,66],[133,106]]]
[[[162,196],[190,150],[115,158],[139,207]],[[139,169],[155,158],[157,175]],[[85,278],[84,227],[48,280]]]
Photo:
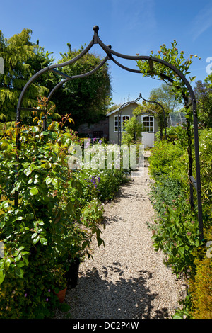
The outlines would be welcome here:
[[[174,273],[187,273],[188,269],[194,269],[193,251],[201,244],[196,214],[181,196],[173,200],[172,206],[164,208],[162,217],[154,225],[153,245],[156,250],[163,250],[166,264]]]

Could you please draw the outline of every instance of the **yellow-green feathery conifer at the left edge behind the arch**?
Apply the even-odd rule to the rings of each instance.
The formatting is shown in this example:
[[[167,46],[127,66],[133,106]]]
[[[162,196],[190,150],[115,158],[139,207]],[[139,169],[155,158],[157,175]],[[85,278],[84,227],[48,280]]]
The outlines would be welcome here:
[[[4,122],[16,120],[18,98],[26,82],[52,61],[48,52],[44,55],[38,43],[30,42],[31,33],[30,29],[23,29],[6,39],[0,31],[0,57],[4,59],[4,74],[0,75],[0,120]],[[41,81],[31,84],[23,99],[23,107],[37,106],[37,97],[45,96],[47,91]],[[21,116],[25,123],[32,120],[28,112],[22,111]]]

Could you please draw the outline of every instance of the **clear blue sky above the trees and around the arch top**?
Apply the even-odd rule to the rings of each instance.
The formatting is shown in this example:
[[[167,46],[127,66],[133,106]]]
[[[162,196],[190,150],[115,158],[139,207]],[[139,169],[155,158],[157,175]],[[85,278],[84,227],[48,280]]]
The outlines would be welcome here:
[[[183,50],[185,57],[201,57],[194,58],[191,66],[191,76],[196,76],[196,80],[204,81],[208,75],[208,57],[212,64],[211,0],[10,0],[0,5],[0,23],[5,38],[23,28],[33,30],[32,41],[38,39],[46,51],[54,52],[55,62],[59,52],[67,51],[67,43],[71,43],[72,50],[88,45],[93,38],[93,26],[98,25],[102,42],[125,55],[149,55],[163,43],[171,46],[176,39],[178,50]],[[98,45],[92,50],[105,57]],[[132,101],[140,93],[148,98],[151,89],[162,84],[108,63],[114,103]],[[122,63],[136,68],[135,62]]]

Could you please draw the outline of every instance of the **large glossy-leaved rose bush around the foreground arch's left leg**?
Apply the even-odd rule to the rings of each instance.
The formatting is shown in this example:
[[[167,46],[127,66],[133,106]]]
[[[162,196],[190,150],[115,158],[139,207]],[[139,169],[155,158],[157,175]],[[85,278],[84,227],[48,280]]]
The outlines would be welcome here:
[[[76,230],[74,227],[73,221],[83,224],[79,220],[82,208],[78,205],[80,182],[76,175],[71,173],[67,163],[67,151],[72,137],[70,132],[61,130],[63,126],[64,123],[57,123],[54,130],[49,132],[43,132],[40,125],[20,128],[21,150],[18,152],[17,178],[16,130],[6,132],[0,142],[0,238],[4,242],[4,258],[0,261],[1,290],[4,290],[8,279],[15,283],[14,288],[16,279],[23,279],[23,290],[30,288],[25,286],[25,283],[34,281],[31,278],[31,269],[35,269],[42,262],[45,269],[42,267],[40,278],[36,269],[35,276],[38,281],[33,287],[36,290],[33,289],[32,292],[30,289],[27,299],[27,305],[31,304],[33,308],[35,302],[37,309],[39,304],[41,309],[42,305],[49,306],[49,302],[45,303],[42,290],[52,290],[55,286],[57,276],[50,272],[57,266],[58,258],[66,255],[69,244],[74,243],[76,231],[80,232],[80,228]],[[49,128],[52,128],[52,125]],[[7,178],[4,178],[6,176]],[[19,192],[18,208],[13,204],[15,191]],[[97,221],[96,223],[98,224]],[[95,225],[94,220],[93,224]],[[40,256],[37,256],[37,253],[40,253]],[[42,283],[42,280],[45,281]],[[9,290],[8,288],[8,292]],[[37,296],[33,298],[35,293]],[[35,313],[25,313],[24,295],[25,293],[22,293],[22,297],[16,300],[22,313],[20,317],[34,317]],[[9,295],[7,297],[9,298]],[[39,297],[42,297],[44,303],[40,303]],[[8,298],[1,300],[5,302],[5,308],[10,307]],[[11,312],[11,315],[14,313]]]

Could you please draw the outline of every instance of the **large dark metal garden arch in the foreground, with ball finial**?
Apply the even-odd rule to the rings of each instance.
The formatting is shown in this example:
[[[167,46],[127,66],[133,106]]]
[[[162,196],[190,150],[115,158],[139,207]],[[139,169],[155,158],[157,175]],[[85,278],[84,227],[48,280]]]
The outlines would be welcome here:
[[[189,91],[189,97],[191,98],[191,100],[189,101],[187,96],[183,96],[184,103],[185,103],[185,108],[189,109],[189,107],[192,106],[193,125],[194,125],[194,150],[195,150],[195,161],[196,161],[196,179],[194,179],[194,176],[193,176],[191,137],[190,137],[190,134],[189,134],[190,133],[190,131],[189,131],[190,130],[190,121],[188,119],[188,123],[187,123],[188,156],[189,156],[189,175],[188,176],[189,176],[189,184],[190,184],[190,204],[191,204],[192,208],[194,208],[193,191],[194,191],[194,188],[195,188],[196,193],[197,193],[197,205],[198,205],[199,237],[202,240],[204,238],[204,232],[203,232],[203,215],[202,215],[202,202],[201,202],[201,178],[200,178],[200,163],[199,163],[198,118],[197,118],[197,112],[196,112],[196,98],[195,98],[195,95],[194,95],[194,91],[192,90],[192,86],[189,84],[189,81],[187,81],[186,77],[184,77],[184,74],[182,74],[182,72],[179,71],[179,69],[174,67],[169,62],[165,62],[165,60],[159,59],[157,57],[151,57],[151,56],[148,56],[148,55],[136,55],[136,56],[123,55],[119,52],[116,52],[116,51],[112,50],[111,45],[105,45],[104,43],[102,43],[102,40],[100,40],[100,38],[98,36],[98,30],[99,30],[98,26],[93,27],[93,31],[94,31],[93,38],[90,41],[90,43],[88,44],[88,46],[79,55],[77,55],[76,57],[74,57],[73,59],[71,59],[67,62],[63,62],[61,64],[52,64],[51,66],[45,67],[44,69],[41,69],[39,72],[34,74],[33,77],[31,77],[29,79],[29,81],[25,84],[23,90],[21,91],[20,97],[18,99],[17,112],[16,112],[16,126],[17,126],[17,128],[20,127],[20,111],[21,110],[26,110],[26,111],[27,110],[28,111],[33,111],[34,110],[35,111],[34,108],[23,108],[22,107],[23,97],[24,97],[25,92],[27,91],[28,87],[30,86],[30,84],[32,84],[33,81],[35,81],[35,79],[37,79],[37,77],[40,77],[40,75],[42,75],[45,72],[54,72],[54,73],[64,77],[64,80],[60,81],[59,84],[54,86],[54,89],[52,89],[52,91],[50,91],[49,96],[48,96],[48,100],[50,101],[54,92],[60,86],[62,86],[64,83],[66,83],[67,81],[72,80],[72,79],[83,78],[83,77],[87,77],[88,75],[93,74],[98,69],[100,69],[100,67],[102,67],[105,64],[105,62],[107,62],[107,60],[112,60],[112,62],[117,64],[122,69],[125,69],[126,71],[141,74],[140,70],[131,69],[129,67],[124,66],[123,64],[120,64],[117,60],[114,59],[113,55],[117,56],[119,58],[122,58],[122,59],[126,59],[126,60],[146,60],[146,61],[148,61],[151,72],[154,71],[154,67],[153,67],[154,62],[158,62],[160,64],[163,64],[165,67],[167,67],[169,69],[172,69],[172,71],[175,72],[175,74],[177,74],[177,76],[180,79],[182,79],[182,81],[184,82],[185,86],[187,87],[187,90]],[[76,76],[73,76],[73,77],[70,77],[69,75],[66,75],[63,72],[59,72],[59,70],[56,69],[56,68],[60,68],[60,67],[65,67],[69,64],[73,64],[73,62],[76,62],[77,60],[79,60],[81,57],[83,57],[83,55],[86,55],[86,53],[90,50],[91,47],[93,47],[94,44],[100,45],[100,47],[102,47],[102,50],[104,50],[105,53],[106,53],[105,59],[102,60],[102,62],[95,69],[91,70],[88,73],[76,75]],[[164,74],[161,74],[161,77],[163,79],[167,79],[168,81],[173,82],[173,80],[170,77],[167,77]],[[179,89],[180,89],[180,87],[179,87]],[[189,112],[191,112],[190,109],[189,109]],[[18,150],[20,149],[20,134],[18,134],[17,137],[16,137],[16,147],[17,147],[17,154],[18,154]],[[15,192],[15,205],[18,207],[18,191]]]

